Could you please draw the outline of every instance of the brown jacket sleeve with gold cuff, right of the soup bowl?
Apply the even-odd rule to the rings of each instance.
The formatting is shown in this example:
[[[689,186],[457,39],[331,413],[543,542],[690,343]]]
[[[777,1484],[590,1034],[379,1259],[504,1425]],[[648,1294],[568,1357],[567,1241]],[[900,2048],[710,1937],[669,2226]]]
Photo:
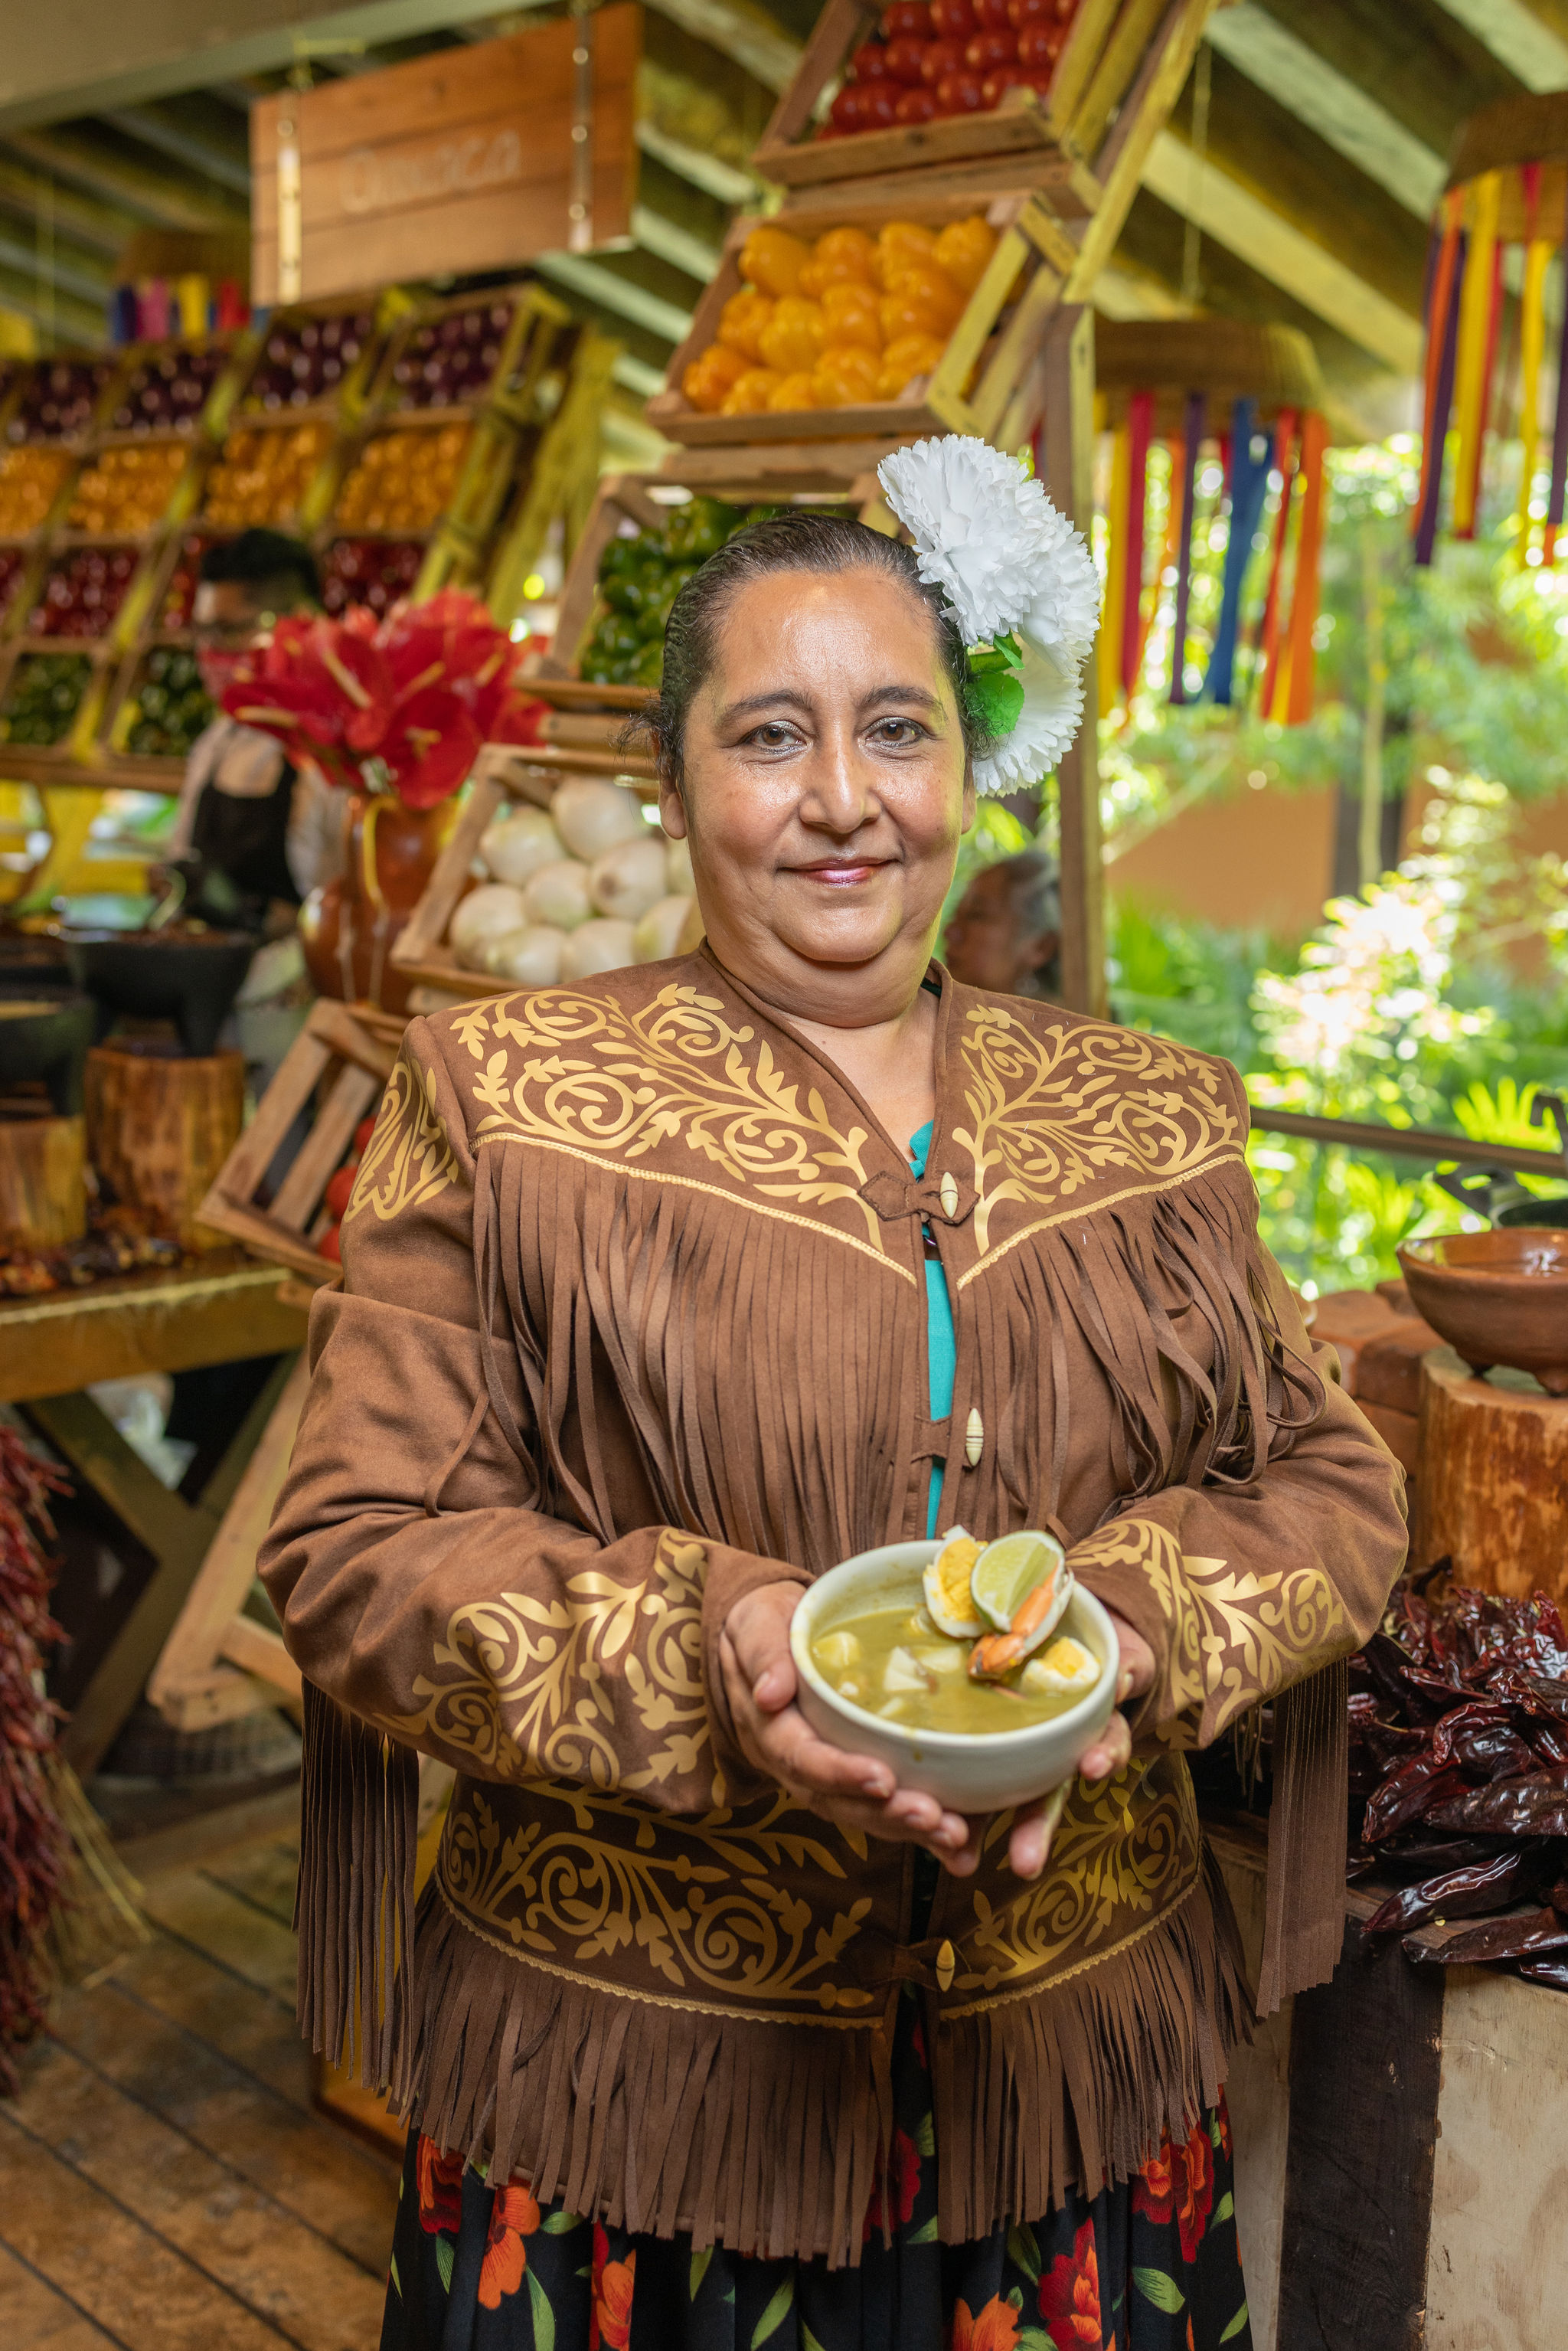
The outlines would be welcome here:
[[[1084,1587],[1154,1650],[1133,1733],[1175,1747],[1208,1747],[1258,1700],[1361,1648],[1406,1561],[1403,1469],[1340,1387],[1333,1349],[1312,1345],[1258,1241],[1255,1204],[1248,1244],[1237,1272],[1316,1371],[1321,1411],[1274,1432],[1251,1483],[1140,1495],[1067,1552]]]

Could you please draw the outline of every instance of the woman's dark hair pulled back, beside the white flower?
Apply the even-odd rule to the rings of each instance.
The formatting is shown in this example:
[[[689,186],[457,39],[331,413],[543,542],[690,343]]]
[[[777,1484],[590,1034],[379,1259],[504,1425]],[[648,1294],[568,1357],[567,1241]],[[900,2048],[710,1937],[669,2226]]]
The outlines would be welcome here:
[[[731,600],[773,571],[882,571],[919,597],[931,614],[936,647],[959,705],[964,755],[976,759],[990,748],[969,696],[964,635],[940,590],[919,576],[914,550],[898,538],[872,531],[865,522],[851,522],[846,515],[792,513],[752,522],[726,538],[719,552],[691,574],[670,607],[658,701],[628,729],[628,734],[654,738],[654,757],[665,783],[679,788],[686,719],[712,670],[719,628]]]

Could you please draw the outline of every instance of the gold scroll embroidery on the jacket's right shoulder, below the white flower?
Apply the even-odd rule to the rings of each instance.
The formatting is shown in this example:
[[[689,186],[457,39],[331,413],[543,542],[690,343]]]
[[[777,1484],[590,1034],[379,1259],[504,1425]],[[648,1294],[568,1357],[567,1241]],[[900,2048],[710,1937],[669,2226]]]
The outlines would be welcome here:
[[[969,1126],[952,1140],[973,1161],[980,1255],[1001,1201],[1072,1201],[1114,1168],[1168,1180],[1244,1140],[1218,1070],[1159,1037],[1112,1027],[1039,1037],[983,1004],[959,1051]]]

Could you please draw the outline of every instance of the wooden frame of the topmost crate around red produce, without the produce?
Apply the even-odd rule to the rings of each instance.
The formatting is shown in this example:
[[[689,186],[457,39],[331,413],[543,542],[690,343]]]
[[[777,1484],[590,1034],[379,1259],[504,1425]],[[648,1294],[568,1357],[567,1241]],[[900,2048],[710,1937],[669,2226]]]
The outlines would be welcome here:
[[[1152,9],[1154,24],[1161,7],[1164,0]],[[1063,214],[1095,209],[1100,183],[1086,167],[1086,143],[1077,125],[1081,122],[1084,132],[1093,132],[1095,122],[1105,129],[1110,108],[1133,80],[1138,71],[1133,24],[1143,26],[1150,14],[1147,0],[1079,0],[1046,99],[1032,89],[1011,89],[1001,106],[985,115],[818,139],[823,101],[844,80],[851,52],[872,35],[879,14],[870,0],[830,0],[823,9],[795,80],[773,108],[752,155],[752,169],[762,179],[809,188],[889,172],[936,174],[957,167],[971,174],[966,181],[971,188],[1046,188]],[[1121,21],[1126,31],[1114,38]],[[1147,33],[1143,40],[1147,42]]]

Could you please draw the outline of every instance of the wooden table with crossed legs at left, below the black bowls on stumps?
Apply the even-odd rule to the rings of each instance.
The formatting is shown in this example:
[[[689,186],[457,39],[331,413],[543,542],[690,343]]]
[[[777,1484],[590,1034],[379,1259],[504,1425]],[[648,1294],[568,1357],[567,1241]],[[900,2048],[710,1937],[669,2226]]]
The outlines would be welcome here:
[[[294,1359],[306,1310],[277,1265],[242,1248],[179,1272],[120,1274],[82,1291],[0,1300],[0,1404],[16,1404],[49,1446],[143,1542],[158,1566],[66,1723],[61,1744],[87,1777],[136,1704],[219,1531]],[[235,1429],[200,1502],[172,1493],[87,1394],[99,1380],[197,1371],[244,1357],[280,1364]]]

